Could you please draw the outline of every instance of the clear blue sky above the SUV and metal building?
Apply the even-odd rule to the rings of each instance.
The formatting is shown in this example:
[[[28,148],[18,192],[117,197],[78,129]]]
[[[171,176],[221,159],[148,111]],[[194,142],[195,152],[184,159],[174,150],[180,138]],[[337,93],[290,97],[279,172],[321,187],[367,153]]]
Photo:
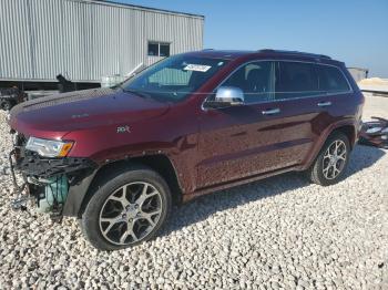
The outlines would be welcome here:
[[[113,0],[205,15],[204,48],[299,50],[388,77],[388,0]]]

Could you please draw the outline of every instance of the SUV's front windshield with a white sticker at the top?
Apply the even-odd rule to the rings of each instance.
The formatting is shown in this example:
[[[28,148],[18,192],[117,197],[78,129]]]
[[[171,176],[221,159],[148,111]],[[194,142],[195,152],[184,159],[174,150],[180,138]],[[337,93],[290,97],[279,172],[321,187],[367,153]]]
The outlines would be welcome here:
[[[198,90],[226,62],[221,59],[175,55],[150,66],[121,87],[141,96],[177,102]]]

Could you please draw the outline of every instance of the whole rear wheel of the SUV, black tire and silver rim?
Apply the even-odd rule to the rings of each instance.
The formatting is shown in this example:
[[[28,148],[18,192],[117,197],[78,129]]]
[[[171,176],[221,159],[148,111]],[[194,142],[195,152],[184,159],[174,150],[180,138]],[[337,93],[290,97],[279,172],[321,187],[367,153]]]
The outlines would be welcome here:
[[[337,148],[336,145],[339,146],[338,154],[333,152],[333,149]],[[341,148],[345,149],[345,154]],[[317,158],[307,170],[310,182],[321,186],[337,184],[344,178],[349,157],[350,143],[348,137],[340,132],[335,132],[327,138]]]

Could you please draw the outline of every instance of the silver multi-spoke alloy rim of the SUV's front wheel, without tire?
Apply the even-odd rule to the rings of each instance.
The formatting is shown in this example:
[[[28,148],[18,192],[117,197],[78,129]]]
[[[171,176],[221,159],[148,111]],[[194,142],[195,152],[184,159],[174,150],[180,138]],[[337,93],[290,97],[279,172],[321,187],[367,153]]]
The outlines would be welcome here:
[[[137,182],[121,186],[101,208],[101,234],[114,245],[140,241],[155,228],[162,207],[161,194],[153,185]]]

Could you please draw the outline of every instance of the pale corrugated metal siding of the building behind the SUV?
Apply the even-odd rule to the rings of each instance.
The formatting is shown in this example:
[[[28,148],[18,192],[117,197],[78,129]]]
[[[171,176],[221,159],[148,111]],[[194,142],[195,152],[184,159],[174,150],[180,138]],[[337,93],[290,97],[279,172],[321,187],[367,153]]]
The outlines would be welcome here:
[[[100,81],[126,74],[147,56],[147,41],[171,54],[203,46],[203,18],[79,0],[0,1],[0,79]]]

